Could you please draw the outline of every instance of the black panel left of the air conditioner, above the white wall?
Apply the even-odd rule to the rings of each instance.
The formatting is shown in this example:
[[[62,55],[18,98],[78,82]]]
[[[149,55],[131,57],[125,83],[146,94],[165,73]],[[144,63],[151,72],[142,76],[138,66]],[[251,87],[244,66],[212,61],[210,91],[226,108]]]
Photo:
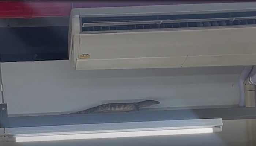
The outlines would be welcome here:
[[[0,28],[1,62],[68,59],[68,27]]]

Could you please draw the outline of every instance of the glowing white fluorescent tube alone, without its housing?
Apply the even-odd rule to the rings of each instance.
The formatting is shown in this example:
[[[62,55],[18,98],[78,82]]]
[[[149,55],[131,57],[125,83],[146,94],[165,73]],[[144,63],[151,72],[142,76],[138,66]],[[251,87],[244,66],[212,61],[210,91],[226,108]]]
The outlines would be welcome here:
[[[120,137],[145,137],[145,136],[160,136],[160,135],[181,135],[181,134],[203,134],[203,133],[213,133],[213,131],[214,131],[213,128],[196,128],[196,129],[176,129],[176,130],[104,132],[104,133],[91,133],[91,134],[43,135],[43,136],[31,136],[31,137],[17,137],[16,142],[60,141],[60,140],[120,138]]]

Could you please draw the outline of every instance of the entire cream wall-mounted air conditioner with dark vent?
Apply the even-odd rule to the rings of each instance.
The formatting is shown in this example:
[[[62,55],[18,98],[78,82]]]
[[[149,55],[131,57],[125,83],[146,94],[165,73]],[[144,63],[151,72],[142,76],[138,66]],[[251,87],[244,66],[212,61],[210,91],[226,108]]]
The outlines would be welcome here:
[[[256,65],[256,3],[72,9],[75,70]]]

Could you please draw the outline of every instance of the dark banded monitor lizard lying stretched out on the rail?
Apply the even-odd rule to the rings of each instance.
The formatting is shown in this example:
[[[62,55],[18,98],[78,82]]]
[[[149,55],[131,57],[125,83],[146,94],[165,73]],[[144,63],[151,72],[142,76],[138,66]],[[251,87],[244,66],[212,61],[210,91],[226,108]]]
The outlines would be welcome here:
[[[99,105],[97,107],[89,108],[83,111],[73,112],[70,114],[139,111],[139,108],[148,107],[154,104],[159,104],[159,102],[155,100],[145,100],[138,103],[108,103]]]

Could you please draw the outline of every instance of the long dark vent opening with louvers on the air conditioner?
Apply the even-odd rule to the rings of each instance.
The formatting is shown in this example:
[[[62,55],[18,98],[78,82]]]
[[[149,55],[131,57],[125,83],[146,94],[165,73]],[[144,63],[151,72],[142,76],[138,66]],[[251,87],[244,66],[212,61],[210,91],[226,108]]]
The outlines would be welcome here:
[[[251,25],[255,24],[255,20],[256,12],[254,11],[189,15],[82,17],[82,32]]]

